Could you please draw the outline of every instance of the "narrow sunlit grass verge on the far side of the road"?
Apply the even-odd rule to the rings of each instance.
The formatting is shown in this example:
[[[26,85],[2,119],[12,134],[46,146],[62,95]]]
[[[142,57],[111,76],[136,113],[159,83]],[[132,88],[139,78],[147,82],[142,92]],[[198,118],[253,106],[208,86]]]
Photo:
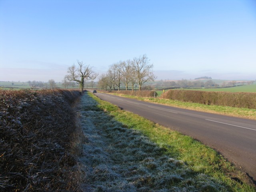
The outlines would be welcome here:
[[[136,96],[130,96],[130,95],[122,95],[122,94],[115,94],[115,95],[124,96],[127,98],[133,98],[141,101],[163,104],[163,105],[172,106],[172,107],[256,120],[256,109],[235,108],[235,107],[218,106],[218,105],[205,105],[205,104],[199,104],[199,103],[181,102],[181,101],[161,99],[161,98],[142,98],[142,97],[136,97]]]

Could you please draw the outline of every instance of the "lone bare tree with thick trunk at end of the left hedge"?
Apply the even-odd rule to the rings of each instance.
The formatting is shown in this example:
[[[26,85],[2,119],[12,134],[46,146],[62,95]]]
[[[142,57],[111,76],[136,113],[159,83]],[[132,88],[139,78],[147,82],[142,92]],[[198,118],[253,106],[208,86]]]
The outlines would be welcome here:
[[[78,67],[73,64],[68,68],[68,74],[66,78],[69,81],[74,81],[79,84],[81,93],[84,90],[84,80],[90,79],[93,80],[98,76],[98,73],[92,71],[92,67],[89,65],[84,65],[83,62],[77,60]]]

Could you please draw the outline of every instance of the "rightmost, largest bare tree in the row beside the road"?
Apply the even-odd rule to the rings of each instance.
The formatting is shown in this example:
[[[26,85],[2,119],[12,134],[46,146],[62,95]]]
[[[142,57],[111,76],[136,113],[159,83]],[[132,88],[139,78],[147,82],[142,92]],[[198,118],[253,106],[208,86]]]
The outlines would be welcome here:
[[[148,81],[154,81],[156,77],[152,72],[153,64],[149,63],[146,54],[140,56],[139,58],[134,58],[132,61],[132,66],[135,70],[136,78],[139,84],[139,90],[141,90],[142,84]]]

